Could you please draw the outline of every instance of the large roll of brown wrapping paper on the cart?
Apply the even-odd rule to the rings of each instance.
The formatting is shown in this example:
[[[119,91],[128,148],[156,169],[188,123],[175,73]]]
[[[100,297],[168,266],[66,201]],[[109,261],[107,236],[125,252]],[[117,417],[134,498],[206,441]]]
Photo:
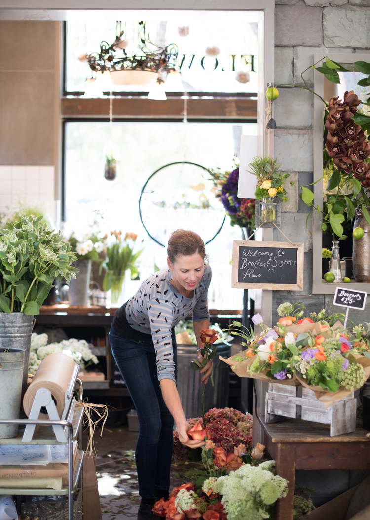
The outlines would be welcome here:
[[[33,400],[39,388],[50,390],[55,400],[58,415],[61,417],[64,410],[64,394],[70,383],[74,367],[74,360],[61,352],[49,354],[42,360],[32,383],[23,397],[23,409],[27,417],[30,414]],[[49,419],[49,416],[47,413],[40,413],[38,419]]]

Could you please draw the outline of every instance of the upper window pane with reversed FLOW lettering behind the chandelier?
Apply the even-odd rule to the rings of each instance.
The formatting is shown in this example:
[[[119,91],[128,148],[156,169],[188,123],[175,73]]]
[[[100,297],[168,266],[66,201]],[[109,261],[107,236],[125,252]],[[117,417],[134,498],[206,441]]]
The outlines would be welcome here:
[[[184,89],[187,92],[257,92],[256,12],[157,11],[139,14],[125,11],[124,14],[122,29],[128,55],[140,52],[138,48],[142,44],[138,31],[141,26],[138,22],[145,15],[146,34],[153,44],[177,45],[176,68],[181,70],[181,77],[174,72],[168,74],[167,92],[183,92]],[[67,92],[85,91],[85,80],[92,71],[83,61],[84,55],[98,53],[102,41],[113,44],[115,36],[115,21],[68,22]],[[112,81],[116,83],[114,92],[149,92],[156,81],[155,74],[142,71],[129,76],[125,72],[124,80],[120,74],[112,73]],[[246,83],[240,82],[246,80]]]

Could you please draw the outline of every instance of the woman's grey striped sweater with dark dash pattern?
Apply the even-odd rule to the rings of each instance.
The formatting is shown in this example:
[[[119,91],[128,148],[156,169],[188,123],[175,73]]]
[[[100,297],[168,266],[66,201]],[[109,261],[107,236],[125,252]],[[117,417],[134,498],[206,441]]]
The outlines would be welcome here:
[[[193,298],[187,298],[171,285],[171,271],[162,269],[147,278],[128,300],[126,319],[130,327],[144,334],[152,334],[158,381],[175,381],[171,329],[190,315],[193,322],[209,319],[207,293],[211,276],[211,268],[205,265],[204,276],[194,289]]]

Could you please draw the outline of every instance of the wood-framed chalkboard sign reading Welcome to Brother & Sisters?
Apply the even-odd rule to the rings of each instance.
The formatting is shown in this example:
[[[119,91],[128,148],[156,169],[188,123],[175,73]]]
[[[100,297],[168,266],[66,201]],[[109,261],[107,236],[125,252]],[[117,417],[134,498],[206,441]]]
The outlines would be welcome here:
[[[234,240],[232,287],[303,291],[304,245]]]

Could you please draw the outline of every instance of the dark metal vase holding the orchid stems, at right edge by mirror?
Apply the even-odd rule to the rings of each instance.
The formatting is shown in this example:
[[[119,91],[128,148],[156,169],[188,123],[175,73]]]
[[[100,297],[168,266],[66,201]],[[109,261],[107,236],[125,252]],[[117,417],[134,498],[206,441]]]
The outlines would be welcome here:
[[[370,213],[370,206],[366,206]],[[352,238],[353,276],[356,282],[370,282],[370,225],[361,208],[355,210],[353,228],[362,227],[364,236],[359,240]]]

